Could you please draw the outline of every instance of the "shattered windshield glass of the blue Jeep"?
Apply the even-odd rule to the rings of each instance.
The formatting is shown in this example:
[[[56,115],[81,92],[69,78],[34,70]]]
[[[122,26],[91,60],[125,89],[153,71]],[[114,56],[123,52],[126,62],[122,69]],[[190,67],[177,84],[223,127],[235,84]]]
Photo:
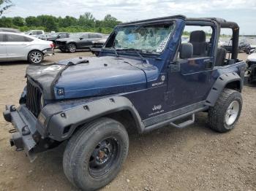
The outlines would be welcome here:
[[[165,49],[173,23],[162,23],[145,26],[119,26],[112,41],[106,47],[116,50],[140,50],[141,52],[160,53]]]

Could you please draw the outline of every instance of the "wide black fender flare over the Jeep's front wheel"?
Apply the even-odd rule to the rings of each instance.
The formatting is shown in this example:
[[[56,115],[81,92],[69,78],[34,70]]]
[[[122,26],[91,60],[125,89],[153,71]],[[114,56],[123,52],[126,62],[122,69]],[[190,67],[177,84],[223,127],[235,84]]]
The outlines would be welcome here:
[[[142,133],[145,127],[135,106],[128,98],[115,96],[92,101],[72,107],[64,112],[53,114],[48,121],[48,137],[56,141],[64,141],[69,139],[75,129],[80,125],[107,114],[121,112],[123,110],[131,112],[138,133]],[[67,133],[65,131],[67,131]]]

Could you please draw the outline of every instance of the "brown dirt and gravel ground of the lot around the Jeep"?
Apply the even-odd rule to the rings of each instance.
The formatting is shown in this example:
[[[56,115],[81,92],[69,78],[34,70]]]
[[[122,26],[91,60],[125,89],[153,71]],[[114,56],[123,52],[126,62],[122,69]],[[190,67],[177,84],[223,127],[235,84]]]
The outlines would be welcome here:
[[[61,53],[52,63],[91,56]],[[241,59],[246,55],[240,54]],[[0,112],[17,104],[26,85],[26,62],[0,63]],[[236,128],[215,133],[206,113],[188,128],[162,128],[129,138],[129,155],[121,173],[102,190],[256,190],[256,87],[244,87],[243,111]],[[10,123],[0,117],[0,190],[76,190],[62,169],[64,146],[40,154],[30,163],[10,147]]]

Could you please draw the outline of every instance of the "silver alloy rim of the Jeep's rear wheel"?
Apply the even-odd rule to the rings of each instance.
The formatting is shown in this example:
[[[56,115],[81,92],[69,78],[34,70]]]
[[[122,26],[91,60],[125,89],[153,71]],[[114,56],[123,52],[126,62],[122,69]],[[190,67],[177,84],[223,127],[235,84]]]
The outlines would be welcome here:
[[[232,101],[230,105],[227,107],[227,111],[225,114],[225,122],[227,125],[232,125],[239,114],[240,105],[238,101]]]

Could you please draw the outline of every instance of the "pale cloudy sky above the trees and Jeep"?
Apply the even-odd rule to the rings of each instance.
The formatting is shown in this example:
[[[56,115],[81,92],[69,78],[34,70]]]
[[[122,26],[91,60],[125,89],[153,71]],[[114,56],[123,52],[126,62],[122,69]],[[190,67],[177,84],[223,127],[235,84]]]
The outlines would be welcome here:
[[[222,17],[235,21],[240,34],[256,35],[256,0],[12,0],[15,4],[6,17],[66,15],[79,17],[91,12],[101,20],[110,14],[122,22],[169,15]]]

